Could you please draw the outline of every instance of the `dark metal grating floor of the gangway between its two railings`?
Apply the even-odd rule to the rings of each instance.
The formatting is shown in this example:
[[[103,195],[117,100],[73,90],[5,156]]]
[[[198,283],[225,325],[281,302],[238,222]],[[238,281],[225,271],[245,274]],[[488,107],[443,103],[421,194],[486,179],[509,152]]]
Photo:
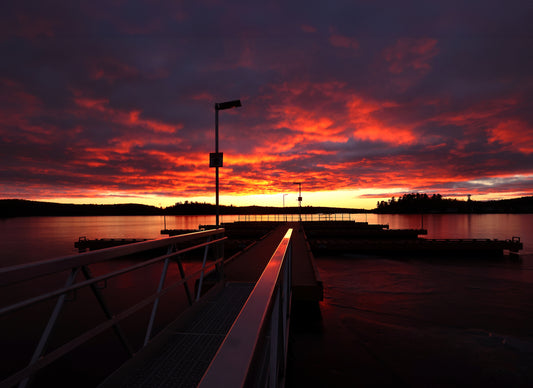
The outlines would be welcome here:
[[[228,283],[190,320],[171,325],[100,387],[196,387],[253,287]]]

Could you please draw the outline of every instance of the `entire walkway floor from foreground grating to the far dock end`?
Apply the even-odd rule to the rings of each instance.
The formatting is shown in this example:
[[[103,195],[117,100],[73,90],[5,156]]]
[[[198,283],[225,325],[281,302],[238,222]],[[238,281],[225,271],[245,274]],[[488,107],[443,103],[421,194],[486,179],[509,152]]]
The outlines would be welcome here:
[[[215,286],[100,387],[195,387],[289,228],[293,297],[322,300],[322,282],[298,223],[279,225],[225,265],[226,284]]]

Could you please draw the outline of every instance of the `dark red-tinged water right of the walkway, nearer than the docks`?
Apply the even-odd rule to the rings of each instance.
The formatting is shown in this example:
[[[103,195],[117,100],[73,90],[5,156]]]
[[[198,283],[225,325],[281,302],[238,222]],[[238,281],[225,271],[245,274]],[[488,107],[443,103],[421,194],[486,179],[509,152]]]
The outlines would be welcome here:
[[[533,255],[522,262],[318,257],[289,386],[533,386]]]

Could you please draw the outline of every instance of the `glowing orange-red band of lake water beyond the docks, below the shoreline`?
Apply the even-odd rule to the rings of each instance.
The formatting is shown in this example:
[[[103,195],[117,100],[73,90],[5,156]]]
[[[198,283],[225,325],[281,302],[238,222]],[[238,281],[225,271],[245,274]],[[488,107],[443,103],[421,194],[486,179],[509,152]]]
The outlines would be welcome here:
[[[221,222],[234,220],[275,220],[283,216],[224,216]],[[310,217],[310,216],[308,216]],[[318,215],[314,216],[318,219]],[[325,217],[322,215],[321,219]],[[388,224],[391,229],[421,228],[428,238],[521,237],[523,253],[533,253],[532,214],[475,215],[336,215],[336,219]],[[333,219],[333,218],[332,218]],[[214,216],[103,216],[103,217],[21,217],[0,219],[0,266],[77,253],[74,242],[85,236],[96,238],[158,238],[160,231],[197,229],[214,224]]]

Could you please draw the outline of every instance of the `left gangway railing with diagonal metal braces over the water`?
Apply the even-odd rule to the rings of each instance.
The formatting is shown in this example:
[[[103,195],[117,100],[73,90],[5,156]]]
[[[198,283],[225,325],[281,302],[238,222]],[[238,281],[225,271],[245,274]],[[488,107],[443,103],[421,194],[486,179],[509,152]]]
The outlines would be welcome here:
[[[204,240],[205,239],[205,240]],[[224,229],[200,231],[195,233],[184,234],[180,236],[160,238],[155,240],[149,240],[139,243],[133,243],[113,248],[106,248],[98,251],[91,251],[81,253],[77,255],[66,256],[62,258],[29,263],[24,265],[17,265],[12,267],[0,268],[0,287],[6,290],[9,286],[18,285],[21,282],[28,282],[28,289],[34,287],[32,284],[36,279],[46,277],[48,275],[59,276],[59,274],[67,273],[64,286],[59,286],[43,292],[42,290],[36,290],[37,295],[27,297],[24,300],[18,301],[11,305],[0,308],[0,318],[8,318],[8,314],[13,314],[19,310],[29,308],[41,302],[55,300],[55,306],[52,309],[48,323],[38,341],[29,364],[19,369],[18,372],[0,381],[0,387],[11,387],[19,384],[19,387],[25,387],[28,385],[30,378],[39,370],[45,368],[50,363],[78,348],[82,344],[86,343],[90,339],[99,335],[100,333],[113,329],[115,334],[120,339],[120,342],[124,346],[125,350],[131,355],[135,352],[130,342],[126,338],[124,331],[120,326],[120,322],[127,317],[131,317],[132,314],[138,312],[143,308],[150,308],[151,313],[144,334],[144,341],[141,347],[144,347],[152,338],[154,330],[154,321],[158,312],[158,306],[160,298],[169,293],[169,291],[176,289],[180,285],[183,285],[187,300],[189,304],[193,303],[193,296],[189,290],[187,282],[189,280],[197,280],[198,290],[195,299],[198,300],[202,294],[202,283],[204,274],[207,271],[217,271],[220,276],[223,276],[223,244],[225,240]],[[203,241],[203,242],[202,242]],[[178,245],[180,248],[178,248]],[[187,246],[185,246],[187,245]],[[208,248],[210,246],[215,247],[215,252],[212,261],[207,262]],[[184,247],[185,246],[185,247]],[[180,255],[186,252],[190,252],[199,248],[204,248],[203,260],[201,269],[194,273],[186,275]],[[157,257],[153,257],[154,250],[165,250],[166,253]],[[97,265],[99,263],[108,262],[109,260],[119,259],[122,257],[128,257],[130,255],[139,255],[146,252],[152,252],[150,258],[143,259],[142,261],[136,261],[133,265],[128,265],[125,268],[109,269],[108,272],[100,274],[99,276],[93,276],[89,266]],[[131,256],[130,256],[131,257]],[[171,262],[176,262],[179,267],[180,279],[178,281],[168,281],[168,269]],[[132,306],[120,311],[112,312],[106,302],[103,293],[101,292],[101,284],[107,284],[107,281],[112,278],[116,278],[120,275],[129,274],[132,271],[139,269],[146,269],[148,266],[159,265],[162,270],[159,277],[159,283],[155,293],[145,296],[141,301],[133,304]],[[131,264],[128,262],[128,264]],[[78,275],[82,274],[84,279],[78,280]],[[22,284],[22,283],[21,283]],[[54,328],[57,326],[58,318],[63,310],[63,306],[70,299],[69,297],[75,295],[78,290],[82,288],[90,288],[98,304],[104,312],[107,320],[97,324],[92,329],[85,331],[83,334],[77,336],[70,341],[55,347],[54,350],[46,353],[46,348],[49,343],[50,337]],[[72,302],[72,300],[70,300]],[[137,349],[138,350],[138,349]]]

